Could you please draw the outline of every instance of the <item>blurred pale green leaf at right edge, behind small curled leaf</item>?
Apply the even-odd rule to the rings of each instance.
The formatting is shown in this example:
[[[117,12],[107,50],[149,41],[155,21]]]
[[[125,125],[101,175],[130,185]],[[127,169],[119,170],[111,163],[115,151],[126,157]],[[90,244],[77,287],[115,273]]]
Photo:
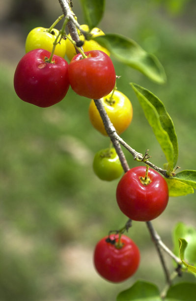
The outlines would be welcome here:
[[[187,226],[182,222],[176,225],[173,231],[173,252],[177,256],[179,255],[179,239],[184,239],[188,243],[184,250],[183,258],[186,258],[189,263],[196,265],[196,228]]]

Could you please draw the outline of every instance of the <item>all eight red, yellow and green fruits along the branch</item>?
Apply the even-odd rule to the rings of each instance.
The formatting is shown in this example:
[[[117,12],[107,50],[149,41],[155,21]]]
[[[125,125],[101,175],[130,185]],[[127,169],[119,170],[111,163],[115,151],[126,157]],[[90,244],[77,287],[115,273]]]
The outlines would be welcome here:
[[[89,30],[86,25],[83,30]],[[92,35],[103,35],[95,28]],[[64,38],[56,29],[35,28],[26,40],[26,55],[19,61],[14,88],[24,101],[49,107],[61,101],[69,86],[79,95],[90,98],[89,119],[96,130],[107,136],[94,99],[101,99],[117,134],[124,132],[133,117],[130,100],[116,88],[116,75],[110,53],[93,40],[85,40],[79,31],[84,52],[76,54],[70,35]],[[68,63],[65,55],[70,60]],[[114,148],[100,150],[93,160],[95,174],[104,181],[119,178],[122,165]],[[116,200],[120,210],[130,219],[150,221],[168,204],[168,186],[152,169],[139,166],[127,171],[119,181]],[[98,273],[112,282],[133,275],[139,266],[140,251],[130,238],[119,232],[100,240],[94,251]]]

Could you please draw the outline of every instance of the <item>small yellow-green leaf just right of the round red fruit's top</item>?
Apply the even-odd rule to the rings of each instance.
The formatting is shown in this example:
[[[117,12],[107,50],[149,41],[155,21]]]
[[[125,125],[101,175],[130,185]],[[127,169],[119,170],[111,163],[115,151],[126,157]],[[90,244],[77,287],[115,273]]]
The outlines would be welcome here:
[[[194,193],[193,187],[175,179],[165,179],[168,183],[169,196],[177,197]]]

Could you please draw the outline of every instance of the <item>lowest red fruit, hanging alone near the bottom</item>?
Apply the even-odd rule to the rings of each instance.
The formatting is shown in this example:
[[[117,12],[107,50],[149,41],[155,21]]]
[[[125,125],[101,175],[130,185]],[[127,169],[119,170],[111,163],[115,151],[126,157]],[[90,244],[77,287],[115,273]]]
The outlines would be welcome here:
[[[100,240],[94,250],[94,265],[98,273],[112,282],[121,282],[132,276],[140,263],[140,251],[134,241],[122,235],[121,247],[117,248],[118,235],[110,235],[111,241],[116,239],[115,244],[107,242],[108,237]]]

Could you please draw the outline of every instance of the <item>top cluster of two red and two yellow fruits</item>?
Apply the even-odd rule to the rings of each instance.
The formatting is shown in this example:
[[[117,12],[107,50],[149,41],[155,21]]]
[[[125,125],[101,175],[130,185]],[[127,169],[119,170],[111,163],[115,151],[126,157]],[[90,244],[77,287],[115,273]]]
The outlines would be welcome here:
[[[86,26],[82,28],[88,30]],[[103,31],[92,30],[92,35],[100,34]],[[92,99],[112,91],[116,75],[108,50],[89,40],[84,42],[83,54],[77,55],[69,39],[60,36],[56,29],[37,27],[28,33],[27,53],[14,75],[14,89],[22,100],[49,107],[65,97],[69,86],[77,94]],[[69,64],[65,54],[71,60]]]

